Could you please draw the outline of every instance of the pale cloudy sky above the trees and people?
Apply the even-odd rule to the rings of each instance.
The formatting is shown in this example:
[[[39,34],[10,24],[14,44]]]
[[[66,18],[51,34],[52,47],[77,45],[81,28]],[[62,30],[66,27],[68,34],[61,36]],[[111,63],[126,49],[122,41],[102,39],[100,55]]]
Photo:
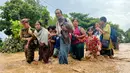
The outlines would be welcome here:
[[[3,5],[7,0],[0,0]],[[50,14],[54,16],[56,8],[63,13],[81,12],[89,13],[92,17],[106,16],[108,21],[119,24],[120,28],[130,28],[130,0],[41,0]],[[1,37],[1,35],[0,35]]]

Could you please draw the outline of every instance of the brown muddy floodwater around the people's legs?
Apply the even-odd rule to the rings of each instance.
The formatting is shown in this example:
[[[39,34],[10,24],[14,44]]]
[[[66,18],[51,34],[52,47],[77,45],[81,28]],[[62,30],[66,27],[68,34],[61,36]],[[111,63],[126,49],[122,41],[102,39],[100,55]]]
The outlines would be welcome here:
[[[38,53],[35,54],[37,60]],[[49,64],[28,64],[23,52],[0,53],[0,73],[130,73],[130,44],[120,44],[120,50],[115,51],[114,59],[100,56],[98,60],[77,61],[69,57],[68,65],[59,65],[58,59],[54,58],[50,61]]]

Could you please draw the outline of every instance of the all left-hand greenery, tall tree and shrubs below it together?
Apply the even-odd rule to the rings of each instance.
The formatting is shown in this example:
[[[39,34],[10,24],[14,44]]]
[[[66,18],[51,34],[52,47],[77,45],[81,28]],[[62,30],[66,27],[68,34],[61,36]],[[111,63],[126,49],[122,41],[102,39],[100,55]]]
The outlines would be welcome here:
[[[29,18],[32,27],[37,20],[48,24],[49,12],[47,7],[40,5],[39,0],[10,0],[0,9],[0,31],[5,30],[5,34],[9,36],[3,42],[1,52],[23,51],[23,43],[19,38],[22,28],[19,20],[22,18]]]

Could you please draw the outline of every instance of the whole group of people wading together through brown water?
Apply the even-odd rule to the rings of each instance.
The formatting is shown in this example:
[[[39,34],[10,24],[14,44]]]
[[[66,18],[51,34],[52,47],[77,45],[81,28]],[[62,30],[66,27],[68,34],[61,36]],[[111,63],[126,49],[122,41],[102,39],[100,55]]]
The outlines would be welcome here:
[[[29,19],[21,20],[24,28],[20,36],[25,42],[24,51],[28,63],[34,61],[36,48],[39,48],[38,61],[46,64],[50,62],[49,58],[52,56],[58,58],[59,64],[68,64],[68,54],[79,61],[83,57],[97,59],[99,55],[113,58],[111,27],[106,24],[106,17],[101,17],[100,22],[85,31],[79,26],[78,19],[70,21],[62,15],[60,9],[55,10],[55,15],[56,26],[49,26],[48,29],[42,27],[40,21],[35,23],[34,29],[30,26]]]

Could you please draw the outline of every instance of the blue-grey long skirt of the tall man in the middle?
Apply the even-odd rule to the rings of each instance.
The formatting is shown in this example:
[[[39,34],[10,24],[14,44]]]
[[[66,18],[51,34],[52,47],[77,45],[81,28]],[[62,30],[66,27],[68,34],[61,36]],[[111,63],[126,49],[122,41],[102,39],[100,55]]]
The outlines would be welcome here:
[[[59,64],[68,64],[69,49],[70,44],[65,44],[63,39],[60,38]]]

